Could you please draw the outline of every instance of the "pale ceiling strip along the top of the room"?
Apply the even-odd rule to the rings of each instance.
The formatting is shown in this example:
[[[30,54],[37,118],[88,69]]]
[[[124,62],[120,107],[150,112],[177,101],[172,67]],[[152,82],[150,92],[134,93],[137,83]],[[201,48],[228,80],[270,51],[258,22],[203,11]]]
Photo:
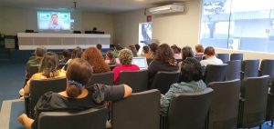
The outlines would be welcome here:
[[[191,0],[0,0],[0,6],[45,10],[62,10],[60,8],[74,10],[74,1],[77,2],[76,10],[78,11],[118,13]]]

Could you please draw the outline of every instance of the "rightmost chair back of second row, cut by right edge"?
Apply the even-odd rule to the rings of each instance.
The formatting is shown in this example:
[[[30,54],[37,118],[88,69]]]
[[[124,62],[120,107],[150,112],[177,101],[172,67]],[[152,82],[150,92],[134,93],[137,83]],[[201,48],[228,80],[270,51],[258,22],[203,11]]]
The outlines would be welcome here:
[[[274,59],[263,59],[260,63],[260,75],[269,74],[270,79],[274,79]]]

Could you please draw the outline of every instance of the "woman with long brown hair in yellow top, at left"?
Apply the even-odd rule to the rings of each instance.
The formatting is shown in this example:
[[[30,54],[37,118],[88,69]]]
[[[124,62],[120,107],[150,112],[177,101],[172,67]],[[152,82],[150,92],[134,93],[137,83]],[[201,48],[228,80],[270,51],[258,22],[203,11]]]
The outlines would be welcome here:
[[[26,82],[24,89],[21,89],[19,94],[29,94],[29,84],[34,79],[47,79],[47,78],[58,78],[66,75],[66,72],[58,69],[58,55],[52,52],[47,52],[42,58],[39,73],[34,74]]]

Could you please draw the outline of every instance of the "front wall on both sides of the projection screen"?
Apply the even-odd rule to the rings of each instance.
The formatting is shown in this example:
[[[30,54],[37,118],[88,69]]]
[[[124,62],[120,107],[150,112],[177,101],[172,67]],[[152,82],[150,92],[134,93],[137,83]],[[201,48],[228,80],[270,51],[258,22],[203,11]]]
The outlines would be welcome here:
[[[0,33],[5,35],[16,35],[25,32],[26,29],[37,30],[37,10],[24,8],[0,7]],[[92,30],[97,27],[98,31],[104,31],[113,35],[113,15],[102,13],[80,13],[72,12],[74,19],[74,30]],[[111,37],[111,43],[112,43]]]

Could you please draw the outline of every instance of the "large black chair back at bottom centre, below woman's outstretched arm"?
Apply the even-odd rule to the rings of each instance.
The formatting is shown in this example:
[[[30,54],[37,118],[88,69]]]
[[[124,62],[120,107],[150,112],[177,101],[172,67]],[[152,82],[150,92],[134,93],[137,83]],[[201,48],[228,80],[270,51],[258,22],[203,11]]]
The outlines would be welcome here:
[[[112,129],[159,129],[160,97],[153,89],[113,102]]]

